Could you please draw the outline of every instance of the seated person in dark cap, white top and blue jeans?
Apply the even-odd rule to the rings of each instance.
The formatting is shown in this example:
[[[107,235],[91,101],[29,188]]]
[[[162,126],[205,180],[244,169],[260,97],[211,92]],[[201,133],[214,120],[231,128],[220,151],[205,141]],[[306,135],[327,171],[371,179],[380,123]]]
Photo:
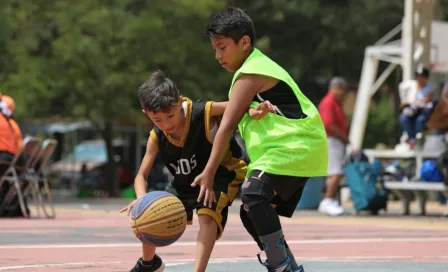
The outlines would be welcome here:
[[[402,99],[400,123],[408,136],[407,143],[411,149],[429,118],[428,107],[434,92],[428,83],[429,75],[428,68],[421,66],[415,71],[415,80],[402,82],[399,86]]]

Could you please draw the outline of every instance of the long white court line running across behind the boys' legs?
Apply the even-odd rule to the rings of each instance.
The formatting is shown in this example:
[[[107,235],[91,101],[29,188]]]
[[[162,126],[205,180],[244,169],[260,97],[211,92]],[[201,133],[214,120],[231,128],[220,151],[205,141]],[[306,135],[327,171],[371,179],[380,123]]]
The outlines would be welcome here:
[[[424,243],[424,242],[448,242],[448,238],[366,238],[366,239],[314,239],[314,240],[288,240],[288,244],[362,244],[362,243]],[[178,242],[174,244],[179,246],[196,246],[196,242]],[[216,246],[241,246],[255,245],[250,241],[221,241],[216,242]],[[0,249],[54,249],[54,248],[121,248],[121,247],[141,247],[141,243],[122,243],[122,244],[42,244],[42,245],[4,245]]]

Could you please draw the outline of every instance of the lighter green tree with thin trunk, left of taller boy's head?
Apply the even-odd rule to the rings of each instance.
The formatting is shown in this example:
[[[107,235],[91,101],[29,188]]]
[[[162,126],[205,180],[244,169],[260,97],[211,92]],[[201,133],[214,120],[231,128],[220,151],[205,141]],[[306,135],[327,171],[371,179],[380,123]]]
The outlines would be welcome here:
[[[2,18],[11,29],[2,29],[6,38],[0,48],[7,48],[17,65],[2,85],[26,105],[18,107],[18,116],[91,120],[109,154],[114,120],[143,118],[136,90],[151,71],[165,70],[185,96],[215,98],[226,91],[228,78],[201,35],[210,15],[221,8],[216,1],[2,3]]]

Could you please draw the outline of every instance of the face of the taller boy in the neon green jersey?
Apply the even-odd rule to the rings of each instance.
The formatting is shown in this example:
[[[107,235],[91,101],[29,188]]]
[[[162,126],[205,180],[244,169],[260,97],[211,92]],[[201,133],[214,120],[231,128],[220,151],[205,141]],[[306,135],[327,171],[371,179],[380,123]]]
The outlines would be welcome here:
[[[250,48],[250,38],[244,36],[238,43],[232,38],[217,35],[210,38],[215,58],[229,72],[235,72],[243,65],[246,52]]]

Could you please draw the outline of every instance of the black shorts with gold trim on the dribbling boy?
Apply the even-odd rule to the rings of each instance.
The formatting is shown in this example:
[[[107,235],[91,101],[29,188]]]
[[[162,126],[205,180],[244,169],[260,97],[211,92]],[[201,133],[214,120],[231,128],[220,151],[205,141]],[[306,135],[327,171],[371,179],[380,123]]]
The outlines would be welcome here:
[[[219,177],[215,177],[214,191],[216,203],[213,203],[211,208],[204,206],[203,202],[197,202],[199,187],[175,186],[170,183],[165,191],[177,196],[182,201],[187,212],[189,225],[193,223],[193,210],[195,209],[197,215],[209,215],[212,217],[218,225],[218,240],[221,238],[227,223],[229,206],[232,205],[233,200],[238,194],[243,180],[244,175],[237,175],[235,180],[230,183],[225,180],[220,180]]]

